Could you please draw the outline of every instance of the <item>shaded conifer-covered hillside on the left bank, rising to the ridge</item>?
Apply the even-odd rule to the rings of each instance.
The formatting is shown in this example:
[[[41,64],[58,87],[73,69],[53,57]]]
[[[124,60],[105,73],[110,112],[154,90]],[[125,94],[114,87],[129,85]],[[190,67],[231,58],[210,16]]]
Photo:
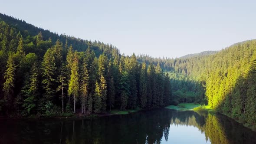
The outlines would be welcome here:
[[[170,78],[159,64],[146,65],[135,55],[121,56],[112,45],[58,36],[9,16],[0,20],[1,115],[92,114],[171,104]]]

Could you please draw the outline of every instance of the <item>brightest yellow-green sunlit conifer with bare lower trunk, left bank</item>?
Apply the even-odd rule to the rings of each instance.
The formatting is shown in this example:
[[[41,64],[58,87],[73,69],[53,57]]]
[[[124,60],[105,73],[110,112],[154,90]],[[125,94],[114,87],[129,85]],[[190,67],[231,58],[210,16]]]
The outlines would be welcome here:
[[[78,52],[74,53],[74,57],[72,59],[72,66],[71,66],[71,75],[70,75],[70,80],[69,80],[69,90],[68,94],[73,95],[74,98],[74,111],[75,113],[75,103],[76,99],[79,94],[79,59],[78,59]]]

